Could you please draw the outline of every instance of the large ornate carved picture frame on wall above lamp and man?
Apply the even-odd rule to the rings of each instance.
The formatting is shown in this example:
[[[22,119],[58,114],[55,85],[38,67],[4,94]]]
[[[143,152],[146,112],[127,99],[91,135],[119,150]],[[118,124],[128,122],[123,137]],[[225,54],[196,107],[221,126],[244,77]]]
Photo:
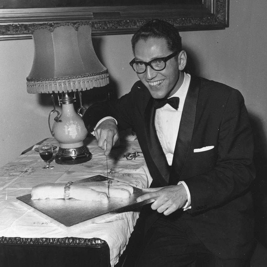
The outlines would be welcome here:
[[[75,1],[78,6],[71,6],[73,1],[70,0],[1,2],[0,40],[29,39],[36,28],[53,30],[62,23],[74,27],[89,24],[93,36],[132,34],[152,18],[169,21],[180,31],[229,27],[229,0],[166,0],[164,4],[159,0],[146,0],[146,3],[153,3],[151,5],[126,5],[126,0],[97,0],[90,1],[91,6],[88,6],[88,0]],[[98,6],[92,6],[92,2]],[[136,0],[136,3],[142,2]]]

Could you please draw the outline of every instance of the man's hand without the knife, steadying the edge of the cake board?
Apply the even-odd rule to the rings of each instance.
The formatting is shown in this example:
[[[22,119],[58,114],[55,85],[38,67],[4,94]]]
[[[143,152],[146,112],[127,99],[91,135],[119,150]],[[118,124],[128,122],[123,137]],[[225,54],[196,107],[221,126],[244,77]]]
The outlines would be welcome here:
[[[147,199],[153,199],[154,203],[151,205],[153,210],[159,213],[169,215],[177,209],[185,206],[187,202],[187,193],[185,187],[180,184],[177,186],[165,186],[158,188],[143,188],[147,194],[138,197],[137,202]]]

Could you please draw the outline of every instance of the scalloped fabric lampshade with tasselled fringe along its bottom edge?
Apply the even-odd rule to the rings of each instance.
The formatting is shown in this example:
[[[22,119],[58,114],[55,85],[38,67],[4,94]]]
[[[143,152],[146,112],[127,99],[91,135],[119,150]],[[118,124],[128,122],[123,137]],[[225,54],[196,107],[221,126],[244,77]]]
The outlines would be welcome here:
[[[96,56],[91,28],[59,26],[33,32],[34,59],[27,77],[28,93],[67,93],[109,83],[107,68]]]

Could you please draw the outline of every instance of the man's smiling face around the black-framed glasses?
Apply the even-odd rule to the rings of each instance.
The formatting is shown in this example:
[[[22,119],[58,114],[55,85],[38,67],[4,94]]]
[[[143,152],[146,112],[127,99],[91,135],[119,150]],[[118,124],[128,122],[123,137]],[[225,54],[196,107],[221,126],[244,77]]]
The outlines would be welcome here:
[[[139,40],[134,47],[134,57],[136,61],[149,62],[152,59],[166,57],[172,54],[167,47],[164,38],[148,38],[146,41]],[[172,96],[180,86],[177,85],[179,79],[180,55],[169,59],[166,68],[162,71],[155,71],[150,66],[144,73],[137,74],[142,83],[147,87],[153,98],[164,98]]]

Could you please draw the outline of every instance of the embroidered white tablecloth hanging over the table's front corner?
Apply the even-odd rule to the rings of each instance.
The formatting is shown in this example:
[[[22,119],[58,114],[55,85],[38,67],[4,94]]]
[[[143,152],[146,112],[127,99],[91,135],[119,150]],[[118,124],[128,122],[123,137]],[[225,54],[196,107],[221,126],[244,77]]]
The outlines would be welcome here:
[[[54,138],[53,145],[59,146]],[[140,151],[138,141],[121,141],[118,148],[112,149],[108,164],[103,150],[97,147],[94,138],[86,138],[93,157],[92,160],[74,165],[61,165],[52,161],[52,170],[42,170],[45,162],[39,153],[31,151],[20,155],[14,161],[0,168],[0,236],[21,238],[100,238],[110,248],[110,262],[114,266],[125,250],[133,231],[138,212],[124,212],[84,226],[76,230],[63,230],[53,222],[44,219],[16,202],[16,197],[30,194],[31,188],[44,182],[66,183],[95,175],[108,176],[115,180],[128,182],[138,188],[147,187],[151,182],[142,153],[135,160],[126,160],[122,155]],[[57,149],[54,151],[56,154]]]

